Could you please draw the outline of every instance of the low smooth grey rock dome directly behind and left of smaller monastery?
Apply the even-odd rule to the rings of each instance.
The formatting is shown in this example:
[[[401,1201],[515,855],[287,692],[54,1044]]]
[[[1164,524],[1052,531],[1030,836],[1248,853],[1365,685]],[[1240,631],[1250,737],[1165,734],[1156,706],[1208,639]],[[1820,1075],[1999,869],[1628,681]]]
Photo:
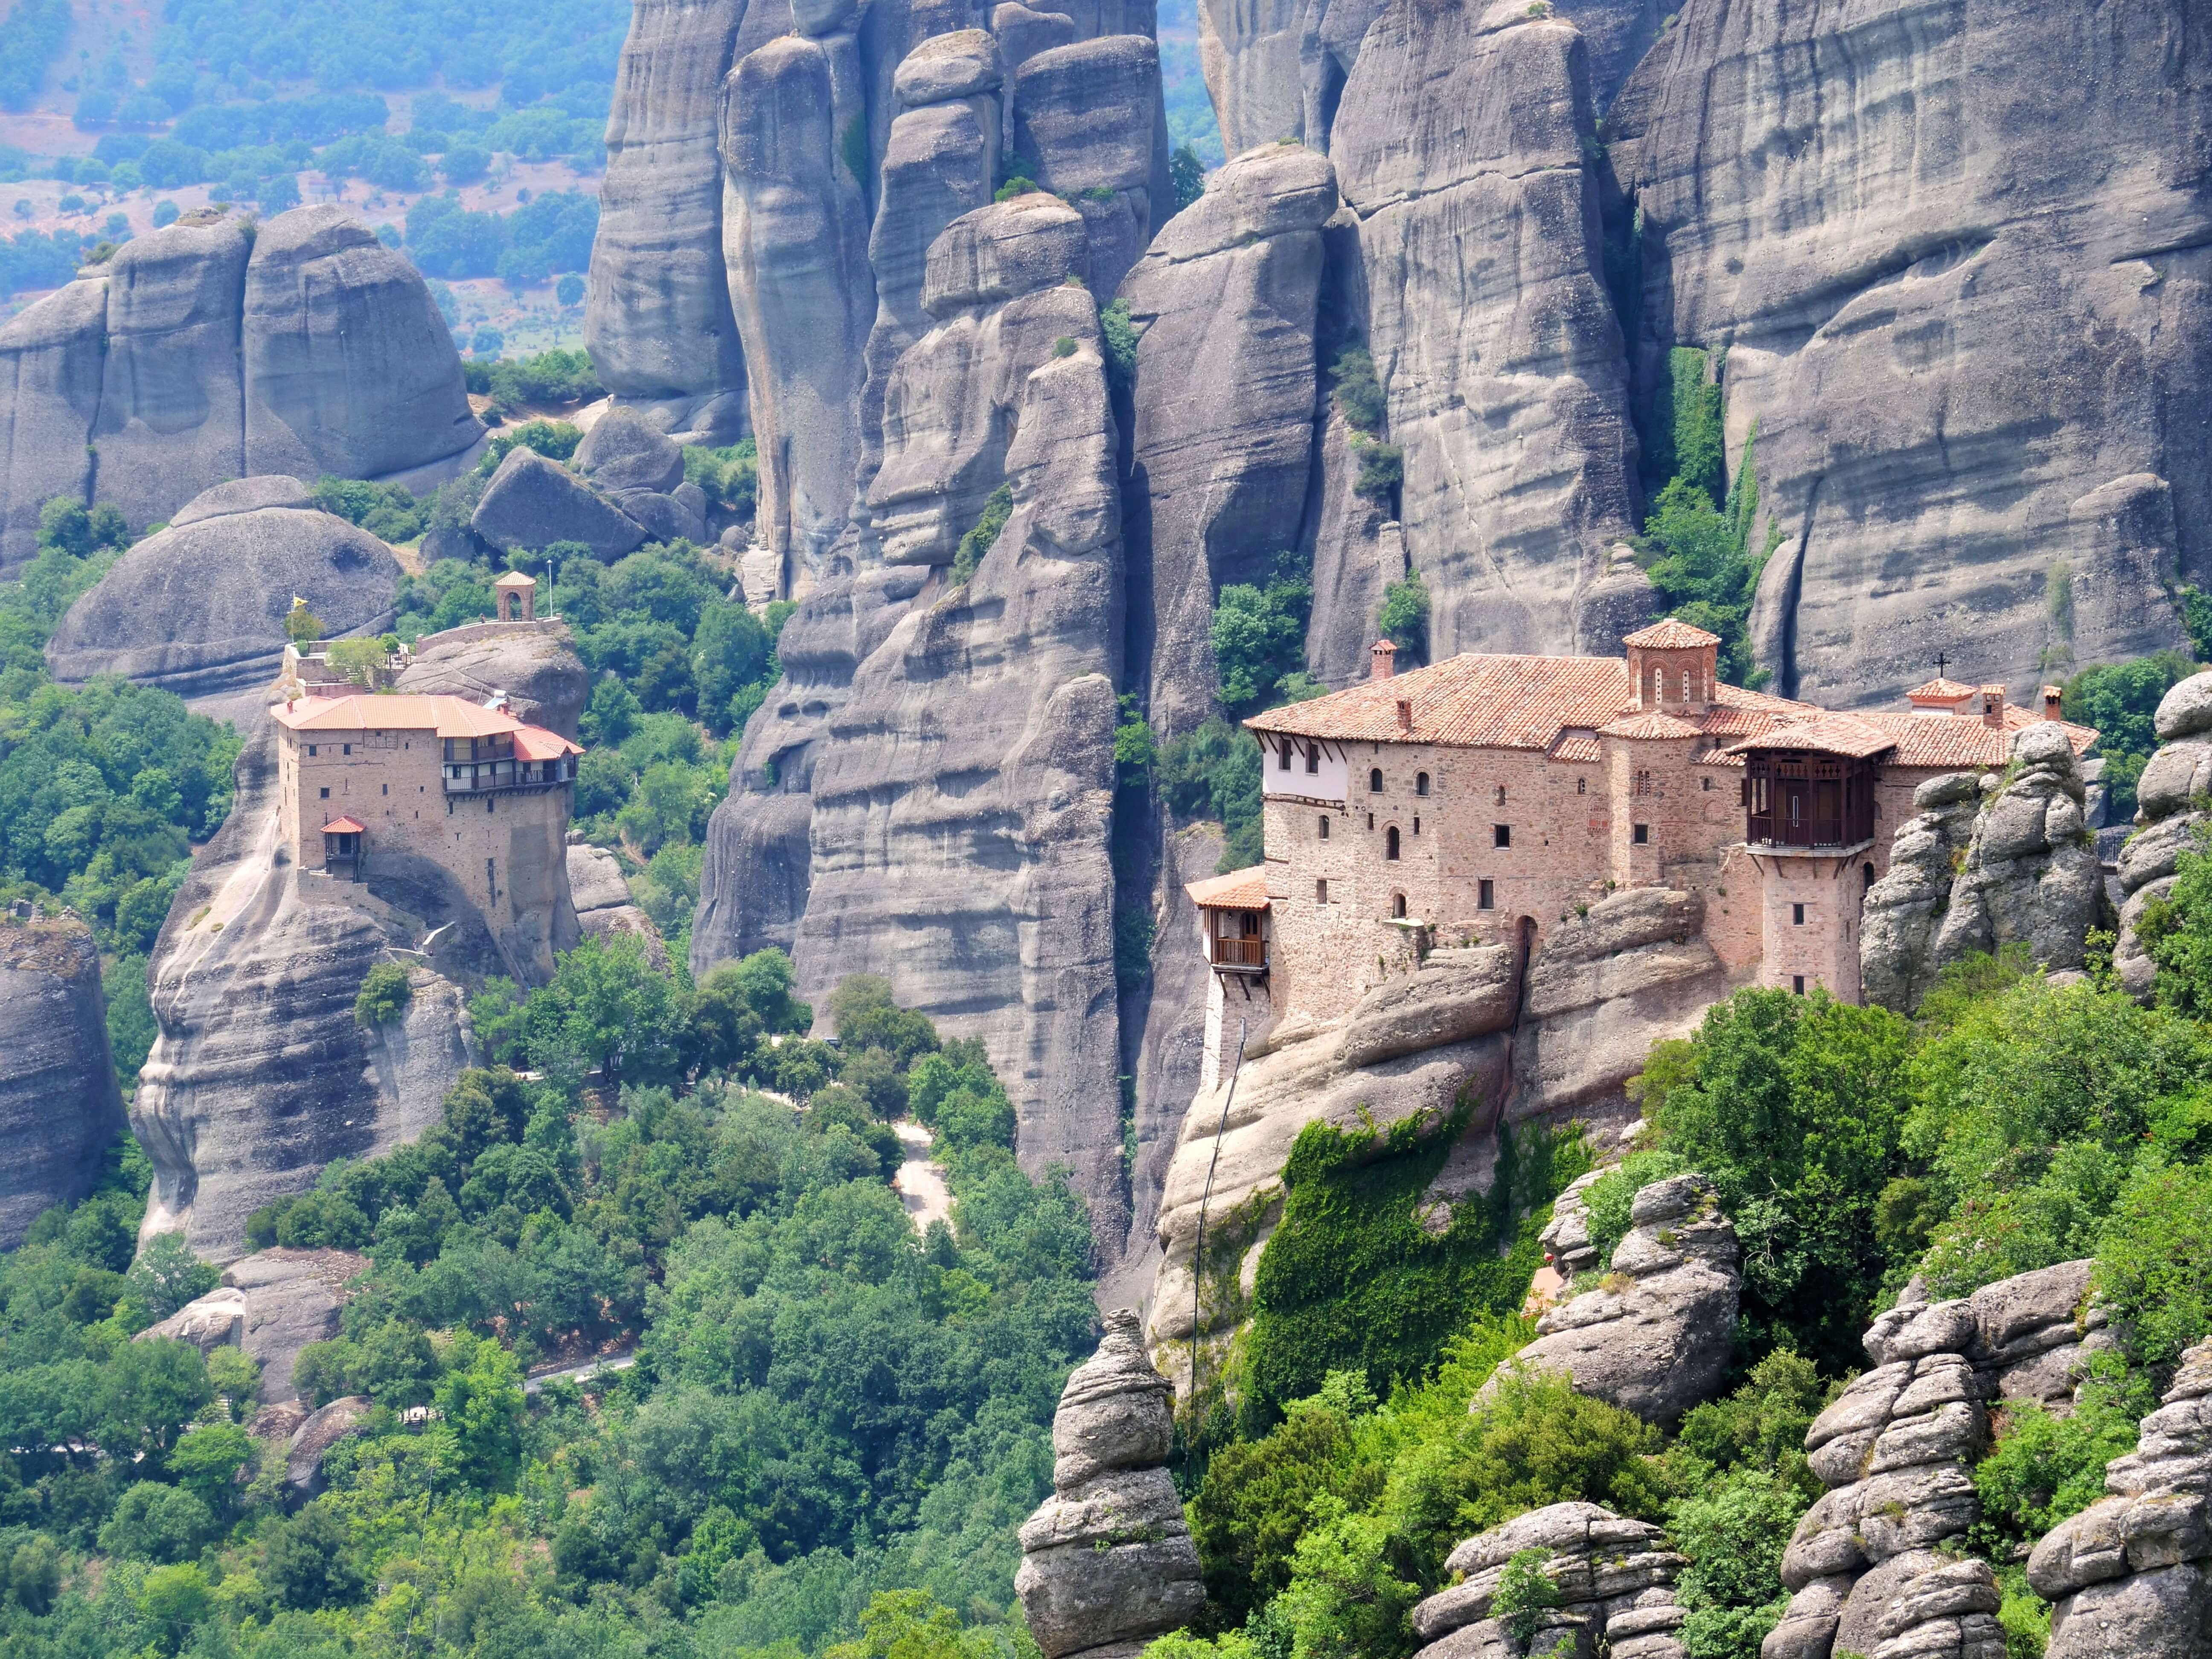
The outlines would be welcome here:
[[[376,635],[396,615],[392,549],[314,507],[288,476],[192,498],[124,553],[46,641],[62,684],[124,675],[186,697],[261,686],[276,672],[301,597],[330,639]]]

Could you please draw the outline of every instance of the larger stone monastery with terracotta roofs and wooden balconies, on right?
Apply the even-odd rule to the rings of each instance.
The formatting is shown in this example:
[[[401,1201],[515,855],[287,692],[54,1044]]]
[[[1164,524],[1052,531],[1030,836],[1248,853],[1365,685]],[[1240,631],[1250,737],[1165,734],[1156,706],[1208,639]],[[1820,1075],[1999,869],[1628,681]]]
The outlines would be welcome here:
[[[1703,900],[1743,982],[1858,1002],[1858,911],[1931,776],[2057,719],[1933,679],[1832,712],[1721,684],[1683,622],[1624,657],[1462,655],[1256,714],[1265,863],[1190,885],[1214,1000],[1334,1020],[1433,945],[1511,945],[1624,887]],[[2068,726],[2079,754],[2097,734]]]

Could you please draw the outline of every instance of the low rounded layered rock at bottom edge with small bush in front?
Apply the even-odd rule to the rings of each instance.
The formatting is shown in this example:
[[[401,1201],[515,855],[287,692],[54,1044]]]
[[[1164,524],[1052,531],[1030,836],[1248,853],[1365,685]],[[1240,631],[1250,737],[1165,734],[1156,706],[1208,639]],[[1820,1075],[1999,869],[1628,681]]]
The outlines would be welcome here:
[[[1506,1564],[1522,1551],[1544,1551],[1544,1577],[1557,1608],[1537,1615],[1531,1641],[1517,1641],[1491,1617]],[[1615,1515],[1599,1504],[1551,1504],[1515,1515],[1460,1544],[1444,1562],[1453,1575],[1413,1608],[1416,1659],[1520,1659],[1571,1652],[1613,1659],[1681,1659],[1674,1577],[1690,1562],[1668,1548],[1650,1522]]]

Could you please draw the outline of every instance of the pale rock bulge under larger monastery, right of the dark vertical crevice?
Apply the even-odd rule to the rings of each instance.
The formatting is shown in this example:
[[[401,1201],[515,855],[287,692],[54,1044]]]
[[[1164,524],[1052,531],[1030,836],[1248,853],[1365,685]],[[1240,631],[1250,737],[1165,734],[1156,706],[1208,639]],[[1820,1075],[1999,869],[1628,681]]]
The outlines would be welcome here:
[[[1511,1121],[1626,1108],[1655,1042],[1686,1037],[1732,989],[1697,894],[1630,887],[1559,922],[1528,962]]]

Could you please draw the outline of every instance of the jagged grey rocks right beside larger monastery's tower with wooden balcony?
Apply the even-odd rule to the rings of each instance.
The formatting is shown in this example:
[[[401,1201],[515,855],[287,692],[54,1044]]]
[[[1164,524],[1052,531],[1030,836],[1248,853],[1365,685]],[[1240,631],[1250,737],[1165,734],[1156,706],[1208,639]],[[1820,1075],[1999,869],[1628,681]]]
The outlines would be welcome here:
[[[2006,945],[2053,973],[2084,964],[2104,874],[2064,726],[2024,726],[2004,774],[1929,779],[1913,805],[1889,874],[1867,891],[1858,960],[1869,1002],[1911,1011],[1944,967]]]

